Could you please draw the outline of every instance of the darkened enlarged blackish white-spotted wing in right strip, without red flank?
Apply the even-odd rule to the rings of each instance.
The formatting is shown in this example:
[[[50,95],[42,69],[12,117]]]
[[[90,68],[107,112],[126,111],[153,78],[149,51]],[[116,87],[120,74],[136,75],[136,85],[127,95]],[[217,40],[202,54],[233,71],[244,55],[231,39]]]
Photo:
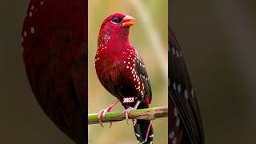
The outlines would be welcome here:
[[[202,121],[191,86],[190,77],[186,70],[182,51],[171,30],[169,30],[169,98],[178,110],[187,137],[193,144],[204,143]]]

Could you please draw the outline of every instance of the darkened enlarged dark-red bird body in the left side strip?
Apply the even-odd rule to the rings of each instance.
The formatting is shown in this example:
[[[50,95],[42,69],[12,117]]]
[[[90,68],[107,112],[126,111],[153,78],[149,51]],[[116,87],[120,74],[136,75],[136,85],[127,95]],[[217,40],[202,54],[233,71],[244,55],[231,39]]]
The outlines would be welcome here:
[[[26,74],[38,103],[60,130],[86,143],[87,3],[33,0],[22,28]]]

